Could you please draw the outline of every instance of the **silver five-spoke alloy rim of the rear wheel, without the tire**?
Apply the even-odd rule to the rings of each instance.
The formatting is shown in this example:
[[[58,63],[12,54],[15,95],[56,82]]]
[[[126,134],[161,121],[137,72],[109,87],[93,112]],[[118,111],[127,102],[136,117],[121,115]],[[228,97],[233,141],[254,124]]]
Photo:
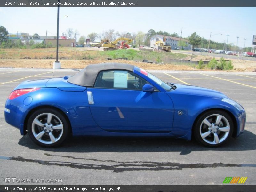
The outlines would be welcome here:
[[[63,134],[63,124],[56,115],[42,113],[33,120],[32,133],[39,142],[52,144],[60,140]]]

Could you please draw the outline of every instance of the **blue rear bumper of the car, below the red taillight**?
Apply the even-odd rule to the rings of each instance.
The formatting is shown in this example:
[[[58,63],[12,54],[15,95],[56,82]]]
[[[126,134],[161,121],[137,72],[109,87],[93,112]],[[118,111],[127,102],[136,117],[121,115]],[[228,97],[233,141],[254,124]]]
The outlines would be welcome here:
[[[5,121],[16,127],[20,130],[21,135],[25,135],[26,132],[24,130],[24,114],[26,113],[27,109],[12,105],[6,101],[5,109],[4,109],[4,117]]]

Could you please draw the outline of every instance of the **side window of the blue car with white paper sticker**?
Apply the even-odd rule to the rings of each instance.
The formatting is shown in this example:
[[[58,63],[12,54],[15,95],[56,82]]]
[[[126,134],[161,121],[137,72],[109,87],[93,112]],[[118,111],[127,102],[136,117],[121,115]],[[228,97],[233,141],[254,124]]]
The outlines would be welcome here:
[[[148,82],[130,71],[101,71],[95,81],[95,88],[142,90]]]

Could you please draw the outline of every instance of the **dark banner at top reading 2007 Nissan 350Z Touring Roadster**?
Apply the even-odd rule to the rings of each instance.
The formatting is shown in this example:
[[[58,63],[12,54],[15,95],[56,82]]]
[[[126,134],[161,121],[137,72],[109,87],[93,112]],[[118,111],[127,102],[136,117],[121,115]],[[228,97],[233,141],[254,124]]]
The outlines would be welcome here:
[[[0,7],[256,7],[255,0],[1,0]]]

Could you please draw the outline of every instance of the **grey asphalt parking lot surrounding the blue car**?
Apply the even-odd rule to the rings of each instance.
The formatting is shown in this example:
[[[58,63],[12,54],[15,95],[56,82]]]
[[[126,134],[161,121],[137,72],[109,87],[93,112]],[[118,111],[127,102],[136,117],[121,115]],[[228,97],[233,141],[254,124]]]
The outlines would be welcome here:
[[[55,70],[54,76],[76,73]],[[246,110],[245,132],[220,148],[170,138],[73,137],[58,148],[41,148],[4,120],[14,87],[28,79],[52,77],[49,69],[0,70],[0,185],[5,178],[62,179],[48,185],[221,185],[225,177],[256,184],[256,73],[150,71],[164,81],[223,92]],[[8,157],[14,157],[11,160]],[[22,183],[46,184],[46,183]]]

